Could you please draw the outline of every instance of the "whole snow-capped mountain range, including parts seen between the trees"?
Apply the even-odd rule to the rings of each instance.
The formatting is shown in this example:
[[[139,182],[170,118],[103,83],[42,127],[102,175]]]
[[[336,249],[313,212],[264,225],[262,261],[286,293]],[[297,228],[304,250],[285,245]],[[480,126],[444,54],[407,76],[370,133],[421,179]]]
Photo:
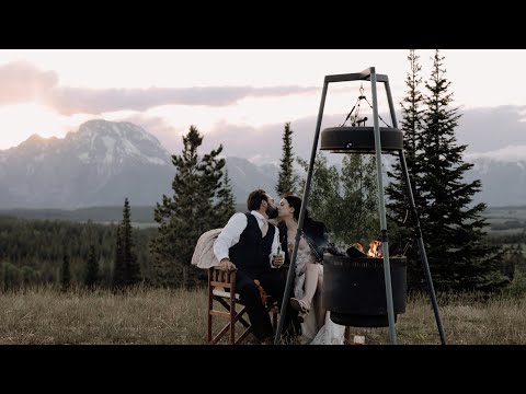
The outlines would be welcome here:
[[[465,161],[474,164],[467,181],[482,182],[476,202],[526,205],[526,146],[466,154]],[[275,195],[277,165],[228,157],[227,169],[238,204],[255,188]],[[64,139],[33,135],[0,151],[0,209],[122,206],[125,197],[151,206],[173,195],[174,174],[170,153],[140,126],[90,120]]]

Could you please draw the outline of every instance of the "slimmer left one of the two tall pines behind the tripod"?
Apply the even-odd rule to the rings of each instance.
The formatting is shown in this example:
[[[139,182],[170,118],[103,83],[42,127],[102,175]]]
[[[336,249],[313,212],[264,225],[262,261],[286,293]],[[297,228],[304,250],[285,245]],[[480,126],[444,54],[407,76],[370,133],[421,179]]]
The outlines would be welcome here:
[[[403,150],[405,164],[411,181],[413,198],[416,210],[420,213],[425,207],[425,200],[421,196],[420,177],[422,176],[421,165],[423,163],[422,132],[424,128],[424,96],[420,90],[422,78],[420,71],[422,66],[419,63],[420,56],[415,55],[414,49],[410,50],[408,60],[410,71],[405,79],[405,97],[400,105],[402,106],[402,119],[400,121],[403,131]],[[414,224],[411,221],[409,198],[407,193],[405,177],[402,173],[400,162],[397,160],[392,172],[387,172],[392,182],[386,187],[388,201],[389,221],[389,241],[393,246],[401,248],[407,242],[413,240]],[[414,240],[413,240],[414,241]],[[415,243],[408,251],[408,281],[413,283],[422,279],[422,263]]]

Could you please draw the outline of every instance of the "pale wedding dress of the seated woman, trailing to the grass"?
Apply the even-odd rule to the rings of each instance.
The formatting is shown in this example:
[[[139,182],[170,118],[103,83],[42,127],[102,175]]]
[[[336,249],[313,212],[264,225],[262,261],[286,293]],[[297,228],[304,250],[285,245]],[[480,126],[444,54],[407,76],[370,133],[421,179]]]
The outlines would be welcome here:
[[[296,256],[294,282],[294,297],[301,299],[304,297],[305,271],[308,263],[316,263],[315,256],[308,247],[298,250]],[[323,280],[323,265],[316,264],[319,268],[321,281]],[[335,324],[331,321],[330,311],[323,308],[322,289],[318,285],[315,297],[310,305],[310,312],[301,323],[301,343],[310,345],[343,345],[345,336],[345,326]]]

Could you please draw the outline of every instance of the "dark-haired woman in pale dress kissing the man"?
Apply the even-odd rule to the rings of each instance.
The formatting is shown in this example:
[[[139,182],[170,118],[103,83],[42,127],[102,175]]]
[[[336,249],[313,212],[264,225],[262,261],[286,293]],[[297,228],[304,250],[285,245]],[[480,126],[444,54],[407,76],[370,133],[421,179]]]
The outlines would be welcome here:
[[[298,230],[301,199],[285,195],[279,201],[278,223],[285,262],[290,263]],[[345,327],[333,323],[322,304],[323,251],[329,244],[324,223],[312,220],[305,211],[301,237],[296,255],[294,298],[290,306],[298,311],[301,334],[311,344],[343,344]]]

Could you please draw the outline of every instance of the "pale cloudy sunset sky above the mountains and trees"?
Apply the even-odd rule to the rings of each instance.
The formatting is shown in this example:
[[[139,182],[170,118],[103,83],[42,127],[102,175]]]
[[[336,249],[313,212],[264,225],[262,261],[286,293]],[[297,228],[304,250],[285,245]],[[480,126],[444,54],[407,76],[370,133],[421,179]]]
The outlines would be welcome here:
[[[416,54],[426,80],[434,50]],[[467,140],[461,142],[472,144],[472,153],[485,154],[492,149],[503,154],[513,144],[514,154],[521,155],[517,144],[526,147],[526,50],[446,49],[441,54],[454,104],[466,114],[461,126]],[[268,130],[277,127],[272,135],[281,149],[286,121],[312,138],[310,128],[327,74],[376,67],[389,77],[399,109],[407,89],[408,55],[408,49],[3,49],[0,149],[18,146],[33,134],[61,138],[94,118],[136,123],[173,153],[181,149],[181,135],[190,125],[211,136],[211,142],[230,142],[235,154],[244,144],[268,139]],[[331,84],[324,116],[342,123],[342,114],[356,103],[359,82]],[[370,84],[364,83],[364,89],[371,102]],[[384,96],[379,91],[380,113],[387,111]],[[506,121],[507,135],[495,132]],[[476,125],[485,128],[480,131]]]

